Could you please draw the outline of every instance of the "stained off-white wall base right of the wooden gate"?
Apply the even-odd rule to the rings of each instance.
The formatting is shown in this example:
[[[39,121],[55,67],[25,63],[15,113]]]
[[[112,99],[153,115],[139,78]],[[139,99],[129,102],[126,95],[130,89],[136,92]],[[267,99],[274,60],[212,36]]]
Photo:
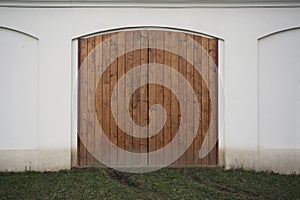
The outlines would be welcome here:
[[[300,174],[300,149],[226,150],[225,168]]]

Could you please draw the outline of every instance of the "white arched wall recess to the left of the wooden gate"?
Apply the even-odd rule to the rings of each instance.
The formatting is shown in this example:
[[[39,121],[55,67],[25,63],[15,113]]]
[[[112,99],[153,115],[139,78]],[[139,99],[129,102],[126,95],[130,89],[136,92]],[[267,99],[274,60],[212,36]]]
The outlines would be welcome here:
[[[0,27],[0,149],[38,146],[38,39]]]

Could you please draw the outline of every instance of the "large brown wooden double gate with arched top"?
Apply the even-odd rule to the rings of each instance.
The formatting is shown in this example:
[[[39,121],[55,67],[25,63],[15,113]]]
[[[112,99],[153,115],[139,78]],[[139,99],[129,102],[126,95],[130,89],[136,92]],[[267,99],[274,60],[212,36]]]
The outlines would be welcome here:
[[[108,155],[104,159],[120,166],[128,162],[133,162],[133,166],[135,162],[161,163],[174,155],[179,158],[173,166],[217,165],[217,44],[216,38],[168,29],[120,30],[80,38],[78,165],[103,165],[97,155]],[[151,67],[153,64],[156,65]],[[149,82],[153,77],[157,84]],[[140,87],[135,89],[135,85]],[[193,89],[192,96],[187,87]],[[165,115],[153,106],[156,104],[164,107]],[[188,110],[194,112],[187,116]],[[151,123],[152,130],[142,128]],[[175,137],[181,125],[180,130],[187,135],[183,139]],[[134,131],[135,126],[139,127],[135,129],[136,135],[125,133]],[[150,133],[153,130],[155,135]],[[105,135],[98,134],[100,131]],[[147,137],[138,137],[142,135]],[[209,148],[209,153],[199,158],[206,136],[205,148]],[[103,137],[115,146],[110,147]],[[120,148],[133,153],[155,152],[170,142],[178,147],[135,161],[118,151]]]

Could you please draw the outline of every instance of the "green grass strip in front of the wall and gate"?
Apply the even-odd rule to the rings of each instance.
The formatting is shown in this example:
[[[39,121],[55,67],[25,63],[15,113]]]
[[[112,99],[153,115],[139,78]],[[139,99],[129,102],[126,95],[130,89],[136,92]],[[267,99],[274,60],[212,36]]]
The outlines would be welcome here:
[[[220,168],[0,173],[0,199],[300,199],[300,175]]]

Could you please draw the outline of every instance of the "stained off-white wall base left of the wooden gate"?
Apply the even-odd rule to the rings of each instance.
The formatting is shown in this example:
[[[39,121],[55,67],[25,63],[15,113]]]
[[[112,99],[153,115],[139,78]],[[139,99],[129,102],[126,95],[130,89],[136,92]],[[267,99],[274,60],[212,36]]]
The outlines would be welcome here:
[[[70,150],[0,150],[0,171],[58,171],[71,168]]]

